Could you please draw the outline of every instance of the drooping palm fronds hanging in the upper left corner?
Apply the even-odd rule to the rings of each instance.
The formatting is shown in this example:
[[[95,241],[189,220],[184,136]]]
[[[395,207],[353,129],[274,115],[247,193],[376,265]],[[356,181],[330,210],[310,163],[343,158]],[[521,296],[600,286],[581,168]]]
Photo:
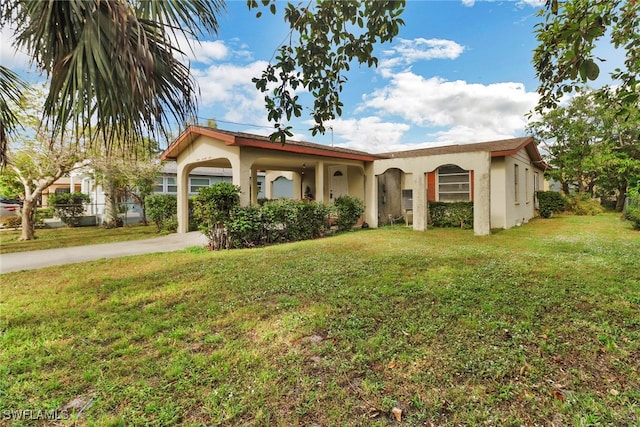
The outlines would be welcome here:
[[[216,33],[223,9],[222,0],[16,1],[0,6],[0,25],[17,28],[15,47],[48,78],[44,122],[52,132],[94,129],[110,151],[195,115],[198,89],[176,59],[177,38]],[[0,102],[19,92],[15,78],[0,82]],[[13,129],[14,118],[0,117],[0,130]]]

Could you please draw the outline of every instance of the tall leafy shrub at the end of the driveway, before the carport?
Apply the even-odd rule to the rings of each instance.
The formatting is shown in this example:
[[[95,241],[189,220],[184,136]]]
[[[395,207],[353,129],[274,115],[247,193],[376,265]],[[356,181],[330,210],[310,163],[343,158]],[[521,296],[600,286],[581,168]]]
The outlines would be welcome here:
[[[225,223],[239,205],[240,187],[237,185],[219,182],[198,191],[193,202],[193,214],[200,223],[200,230],[209,239],[209,249],[229,248]]]

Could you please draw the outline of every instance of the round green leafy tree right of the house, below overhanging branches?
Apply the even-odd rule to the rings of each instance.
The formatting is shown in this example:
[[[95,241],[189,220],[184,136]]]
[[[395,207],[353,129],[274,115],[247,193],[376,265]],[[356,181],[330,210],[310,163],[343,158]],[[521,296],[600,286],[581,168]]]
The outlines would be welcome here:
[[[640,108],[621,103],[617,90],[583,89],[567,105],[530,123],[553,169],[547,175],[563,191],[617,197],[622,208],[634,176],[640,175]]]

